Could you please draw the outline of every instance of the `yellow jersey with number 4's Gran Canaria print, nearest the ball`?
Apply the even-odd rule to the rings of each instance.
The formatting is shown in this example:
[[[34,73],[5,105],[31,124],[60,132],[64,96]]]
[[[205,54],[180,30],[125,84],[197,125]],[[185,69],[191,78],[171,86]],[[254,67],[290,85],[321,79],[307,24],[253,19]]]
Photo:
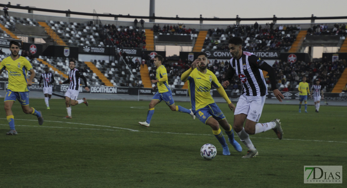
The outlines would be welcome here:
[[[219,88],[221,84],[217,80],[217,76],[212,71],[207,70],[204,74],[195,68],[188,76],[188,93],[191,98],[192,110],[197,111],[209,104],[214,103],[210,94],[211,84],[215,88]]]

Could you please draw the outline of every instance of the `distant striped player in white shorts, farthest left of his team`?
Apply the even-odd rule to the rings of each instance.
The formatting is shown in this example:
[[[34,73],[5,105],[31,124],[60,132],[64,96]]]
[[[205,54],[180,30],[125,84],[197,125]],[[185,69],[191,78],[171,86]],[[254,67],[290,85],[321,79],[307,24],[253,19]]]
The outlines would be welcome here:
[[[49,72],[49,68],[44,68],[44,73],[40,76],[39,86],[41,87],[41,81],[43,80],[43,94],[44,94],[44,102],[46,103],[47,109],[49,108],[48,101],[52,97],[52,86],[54,83],[54,76]]]

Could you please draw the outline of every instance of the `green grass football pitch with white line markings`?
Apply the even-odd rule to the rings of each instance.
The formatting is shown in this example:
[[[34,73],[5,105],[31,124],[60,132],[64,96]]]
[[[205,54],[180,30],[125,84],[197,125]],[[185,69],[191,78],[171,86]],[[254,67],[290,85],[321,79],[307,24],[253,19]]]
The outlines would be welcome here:
[[[346,187],[303,183],[304,165],[342,165],[346,174],[346,107],[322,105],[315,113],[309,106],[306,114],[297,113],[297,105],[265,105],[260,122],[279,118],[283,139],[272,130],[253,135],[259,156],[243,159],[247,148],[241,142],[243,152],[229,144],[231,155],[223,156],[208,125],[163,103],[149,128],[138,125],[148,104],[90,100],[88,107],[72,107],[73,119],[62,119],[64,100],[50,100],[47,110],[43,99],[30,99],[43,113],[45,122],[38,125],[16,102],[16,136],[6,136],[2,109],[0,187]],[[232,123],[227,104],[218,105]],[[217,147],[211,161],[200,156],[206,143]]]

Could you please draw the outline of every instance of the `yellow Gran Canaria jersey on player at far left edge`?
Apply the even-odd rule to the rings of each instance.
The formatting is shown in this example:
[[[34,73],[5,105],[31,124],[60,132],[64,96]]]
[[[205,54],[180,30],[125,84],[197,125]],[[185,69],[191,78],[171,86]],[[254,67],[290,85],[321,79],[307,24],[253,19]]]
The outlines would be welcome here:
[[[11,56],[2,60],[0,64],[0,70],[7,69],[8,72],[8,87],[11,91],[25,92],[29,91],[26,86],[26,73],[28,70],[32,70],[30,62],[22,56],[13,60]]]

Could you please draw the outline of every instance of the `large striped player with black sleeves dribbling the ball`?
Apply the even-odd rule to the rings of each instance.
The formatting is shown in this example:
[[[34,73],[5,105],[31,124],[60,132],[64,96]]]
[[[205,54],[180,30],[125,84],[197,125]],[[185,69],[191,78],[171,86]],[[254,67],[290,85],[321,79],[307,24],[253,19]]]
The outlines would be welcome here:
[[[223,83],[223,86],[227,87],[230,84],[235,73],[242,83],[242,95],[237,102],[234,112],[233,127],[240,140],[248,148],[247,154],[242,158],[251,158],[258,155],[258,151],[251,139],[249,139],[249,134],[256,134],[272,129],[279,139],[282,139],[283,136],[279,119],[274,119],[268,123],[257,123],[263,111],[266,95],[268,94],[268,88],[262,70],[269,73],[274,96],[280,102],[282,102],[281,98],[284,98],[284,96],[276,88],[276,77],[273,68],[256,55],[242,51],[242,44],[243,41],[239,37],[229,39],[228,47],[232,58],[230,59],[226,74],[227,81]],[[245,121],[244,128],[243,124]]]

